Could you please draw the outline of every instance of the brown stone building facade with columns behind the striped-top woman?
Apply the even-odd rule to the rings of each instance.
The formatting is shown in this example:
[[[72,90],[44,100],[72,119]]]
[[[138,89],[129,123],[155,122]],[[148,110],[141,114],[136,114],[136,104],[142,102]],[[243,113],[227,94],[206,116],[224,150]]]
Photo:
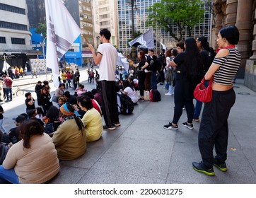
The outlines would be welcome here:
[[[256,1],[255,0],[214,0],[213,44],[216,35],[226,25],[235,25],[240,32],[236,47],[242,60],[237,78],[245,78],[245,86],[256,91]],[[215,37],[215,40],[214,40]]]

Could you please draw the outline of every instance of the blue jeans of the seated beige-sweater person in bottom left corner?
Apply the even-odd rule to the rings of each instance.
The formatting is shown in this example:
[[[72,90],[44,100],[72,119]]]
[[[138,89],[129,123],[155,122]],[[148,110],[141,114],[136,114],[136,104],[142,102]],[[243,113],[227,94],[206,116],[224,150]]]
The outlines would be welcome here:
[[[0,184],[11,182],[12,184],[19,184],[18,175],[16,175],[14,168],[5,169],[3,165],[0,165]]]

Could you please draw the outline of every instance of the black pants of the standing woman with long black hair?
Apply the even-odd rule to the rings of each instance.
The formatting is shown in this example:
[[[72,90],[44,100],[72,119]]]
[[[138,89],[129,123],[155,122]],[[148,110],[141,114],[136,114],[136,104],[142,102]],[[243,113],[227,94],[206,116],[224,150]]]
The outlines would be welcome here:
[[[185,105],[187,111],[187,122],[192,123],[194,115],[193,88],[190,81],[179,79],[174,91],[174,115],[173,124],[178,124],[182,115],[182,107]]]

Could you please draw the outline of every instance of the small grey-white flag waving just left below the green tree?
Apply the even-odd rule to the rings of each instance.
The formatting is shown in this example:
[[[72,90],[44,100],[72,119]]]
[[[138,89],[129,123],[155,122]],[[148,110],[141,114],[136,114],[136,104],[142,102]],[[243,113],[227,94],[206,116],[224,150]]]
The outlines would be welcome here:
[[[140,46],[140,47],[147,47],[149,49],[153,49],[155,47],[153,43],[153,29],[149,29],[146,33],[139,35],[134,40],[129,42],[129,46]]]

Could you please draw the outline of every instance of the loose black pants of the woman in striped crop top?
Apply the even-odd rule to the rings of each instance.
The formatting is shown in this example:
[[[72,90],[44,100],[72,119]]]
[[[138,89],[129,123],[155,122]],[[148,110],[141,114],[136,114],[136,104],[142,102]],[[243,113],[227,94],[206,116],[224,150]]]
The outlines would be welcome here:
[[[199,128],[198,144],[206,166],[214,164],[213,149],[220,163],[226,161],[228,147],[228,115],[235,103],[233,88],[228,91],[213,91],[211,102],[204,104]]]

